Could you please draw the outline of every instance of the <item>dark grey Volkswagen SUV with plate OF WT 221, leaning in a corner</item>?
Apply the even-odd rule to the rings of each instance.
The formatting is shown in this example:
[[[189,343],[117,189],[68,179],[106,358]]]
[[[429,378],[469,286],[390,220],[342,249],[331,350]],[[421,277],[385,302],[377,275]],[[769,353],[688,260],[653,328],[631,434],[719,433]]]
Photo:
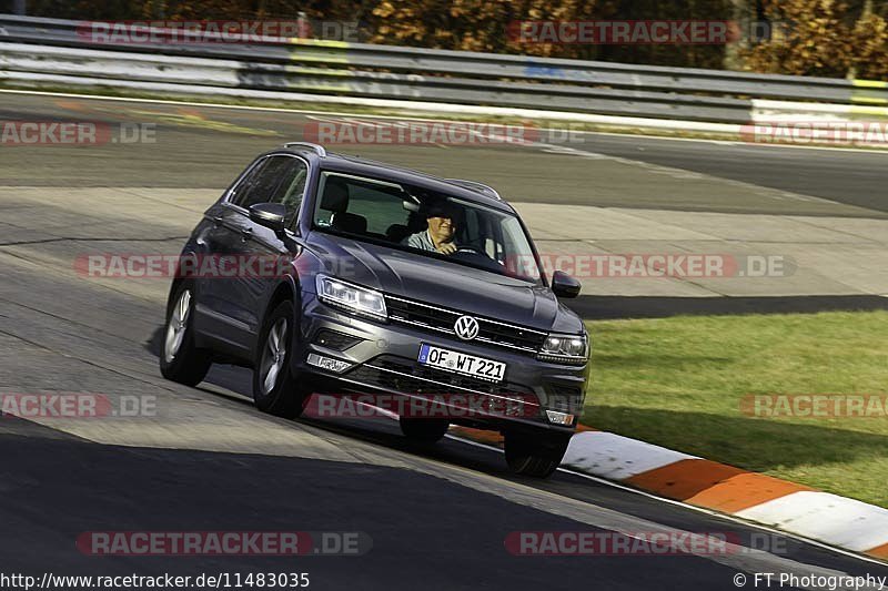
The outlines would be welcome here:
[[[518,473],[561,462],[589,343],[558,297],[579,284],[544,273],[493,188],[290,143],[204,213],[179,264],[164,377],[195,385],[212,363],[242,365],[278,416],[315,393],[375,396],[407,403],[396,414],[417,442],[460,424],[501,431]]]

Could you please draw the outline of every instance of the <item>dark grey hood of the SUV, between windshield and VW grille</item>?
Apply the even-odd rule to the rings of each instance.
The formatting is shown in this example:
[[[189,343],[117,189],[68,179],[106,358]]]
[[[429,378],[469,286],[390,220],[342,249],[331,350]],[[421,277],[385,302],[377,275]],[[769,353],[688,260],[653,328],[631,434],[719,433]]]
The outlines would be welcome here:
[[[514,323],[576,333],[582,323],[548,287],[341,236],[312,233],[322,273],[386,294]]]

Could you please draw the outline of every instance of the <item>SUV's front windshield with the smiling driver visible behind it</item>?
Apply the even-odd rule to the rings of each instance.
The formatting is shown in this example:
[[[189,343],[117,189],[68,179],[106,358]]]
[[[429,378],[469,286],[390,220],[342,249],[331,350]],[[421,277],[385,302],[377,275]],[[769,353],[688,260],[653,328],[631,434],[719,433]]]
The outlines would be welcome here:
[[[324,171],[313,227],[539,283],[517,216],[427,188]]]

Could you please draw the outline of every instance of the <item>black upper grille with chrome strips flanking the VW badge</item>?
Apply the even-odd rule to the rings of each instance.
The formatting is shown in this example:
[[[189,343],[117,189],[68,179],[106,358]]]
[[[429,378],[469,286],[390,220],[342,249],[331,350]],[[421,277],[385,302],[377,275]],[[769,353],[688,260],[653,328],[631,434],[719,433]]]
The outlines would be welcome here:
[[[453,336],[456,336],[453,329],[454,323],[460,316],[465,315],[462,312],[392,295],[385,296],[385,306],[389,310],[389,319],[394,323]],[[478,322],[480,327],[478,336],[474,338],[474,342],[536,354],[546,338],[546,333],[543,330],[480,316],[474,316],[474,318]]]

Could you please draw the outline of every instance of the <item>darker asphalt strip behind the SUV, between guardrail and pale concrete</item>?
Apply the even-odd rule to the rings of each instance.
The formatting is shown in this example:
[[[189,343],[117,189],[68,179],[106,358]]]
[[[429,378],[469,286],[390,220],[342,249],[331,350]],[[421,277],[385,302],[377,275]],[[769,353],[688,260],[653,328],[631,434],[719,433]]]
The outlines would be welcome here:
[[[4,151],[0,183],[224,188],[232,171],[259,152],[302,140],[306,124],[343,119],[3,94],[2,121],[150,124],[157,142],[107,143],[88,150],[17,147]],[[339,151],[441,176],[484,179],[514,202],[888,217],[882,153],[582,133],[548,144],[533,150],[495,143],[458,147],[362,144]],[[33,167],[43,174],[22,176],[22,170]],[[736,183],[746,184],[745,191],[734,191]],[[764,187],[829,201],[799,203]]]

